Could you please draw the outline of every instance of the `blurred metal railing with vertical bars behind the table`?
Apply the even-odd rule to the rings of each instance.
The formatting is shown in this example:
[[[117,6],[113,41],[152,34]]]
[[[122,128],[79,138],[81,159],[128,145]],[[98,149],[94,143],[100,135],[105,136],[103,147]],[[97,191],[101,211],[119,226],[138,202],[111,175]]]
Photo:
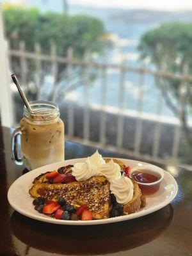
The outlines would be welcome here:
[[[12,57],[17,57],[20,60],[20,69],[22,76],[22,83],[26,83],[26,61],[34,60],[36,66],[36,74],[39,76],[42,69],[42,61],[48,61],[51,63],[53,69],[55,70],[53,76],[53,81],[56,81],[56,72],[58,69],[58,65],[63,63],[66,65],[67,70],[67,83],[72,83],[72,70],[74,65],[83,67],[83,76],[88,77],[90,74],[90,68],[95,67],[101,70],[101,91],[100,91],[100,124],[99,124],[99,141],[94,142],[90,141],[90,109],[92,108],[90,102],[90,86],[89,81],[86,79],[84,83],[84,108],[83,108],[83,139],[77,138],[74,136],[74,104],[68,105],[68,134],[67,138],[74,141],[80,141],[86,143],[87,145],[93,145],[96,147],[108,148],[111,150],[118,150],[122,154],[129,154],[135,157],[142,157],[147,160],[152,161],[163,161],[161,157],[159,158],[159,143],[161,141],[161,126],[163,124],[162,120],[162,108],[163,108],[163,100],[162,97],[157,99],[157,112],[156,118],[150,117],[150,120],[153,120],[156,125],[154,129],[154,135],[152,140],[152,154],[141,154],[141,135],[142,135],[142,120],[145,120],[145,113],[143,112],[143,93],[142,88],[145,83],[145,76],[150,75],[154,77],[159,77],[161,79],[177,79],[180,81],[182,86],[185,86],[186,83],[192,81],[192,76],[188,76],[187,74],[170,74],[168,72],[164,72],[163,70],[150,70],[145,68],[145,66],[141,68],[129,67],[126,65],[126,61],[122,60],[120,64],[107,63],[106,59],[103,58],[101,62],[92,61],[88,58],[88,55],[85,54],[82,60],[77,60],[73,57],[72,49],[68,49],[66,56],[57,56],[56,47],[52,44],[50,54],[42,54],[40,45],[35,44],[35,52],[27,52],[25,50],[25,45],[23,42],[20,43],[20,48],[18,50],[8,49],[8,57],[11,60]],[[120,79],[118,83],[118,123],[116,129],[116,146],[107,145],[106,143],[106,115],[108,113],[108,108],[106,106],[106,98],[108,95],[109,84],[108,84],[108,70],[109,68],[116,68],[120,74]],[[138,90],[138,99],[137,99],[137,108],[135,111],[135,119],[136,119],[136,129],[134,134],[134,149],[127,150],[123,147],[124,140],[124,119],[125,119],[125,77],[127,72],[134,72],[138,74],[140,78],[140,83],[138,86],[140,90]],[[38,83],[40,86],[40,81]],[[182,93],[181,96],[182,97]],[[182,100],[180,98],[180,100]],[[178,104],[180,104],[180,100]],[[127,109],[126,109],[127,111]],[[127,115],[127,114],[126,114]],[[172,145],[172,155],[168,158],[177,158],[179,152],[180,145],[180,113],[176,116],[176,122],[174,125],[174,136],[173,136],[173,145]],[[167,160],[167,159],[166,159]]]

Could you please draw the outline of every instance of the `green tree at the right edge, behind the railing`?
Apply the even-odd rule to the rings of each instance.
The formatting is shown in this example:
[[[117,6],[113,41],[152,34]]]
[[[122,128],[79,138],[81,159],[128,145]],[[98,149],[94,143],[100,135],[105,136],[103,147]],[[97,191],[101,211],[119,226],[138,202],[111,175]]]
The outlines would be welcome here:
[[[150,60],[157,70],[189,75],[192,72],[192,24],[172,22],[145,33],[138,49],[141,59]],[[187,141],[192,145],[188,114],[192,107],[191,81],[160,79],[156,84],[172,112],[179,116]]]

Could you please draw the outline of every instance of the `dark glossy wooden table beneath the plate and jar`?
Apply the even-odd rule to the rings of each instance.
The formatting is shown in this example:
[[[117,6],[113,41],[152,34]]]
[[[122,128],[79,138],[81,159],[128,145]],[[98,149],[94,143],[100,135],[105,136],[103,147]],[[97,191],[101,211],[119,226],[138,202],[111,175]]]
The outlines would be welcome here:
[[[70,159],[90,156],[95,148],[67,141],[65,150]],[[172,168],[179,193],[163,209],[121,223],[70,227],[32,220],[10,207],[8,188],[23,167],[12,163],[10,129],[1,126],[0,166],[0,255],[192,255],[192,173],[184,168]]]

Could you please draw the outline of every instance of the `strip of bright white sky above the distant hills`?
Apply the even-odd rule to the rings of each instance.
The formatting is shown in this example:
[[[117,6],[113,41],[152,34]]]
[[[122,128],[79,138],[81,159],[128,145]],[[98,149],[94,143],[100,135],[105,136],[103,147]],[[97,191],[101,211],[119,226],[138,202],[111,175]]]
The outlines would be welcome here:
[[[69,3],[101,8],[191,10],[192,0],[69,0]]]

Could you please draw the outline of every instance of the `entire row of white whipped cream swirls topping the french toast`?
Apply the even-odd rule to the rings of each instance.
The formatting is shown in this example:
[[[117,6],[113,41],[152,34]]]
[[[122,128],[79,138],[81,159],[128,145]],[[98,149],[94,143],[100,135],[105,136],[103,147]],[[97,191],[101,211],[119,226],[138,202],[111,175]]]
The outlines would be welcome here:
[[[72,175],[77,181],[87,180],[95,175],[103,175],[110,182],[111,193],[116,202],[127,204],[133,197],[134,187],[131,179],[121,175],[120,166],[113,159],[106,163],[98,150],[83,163],[76,163],[72,167]]]

